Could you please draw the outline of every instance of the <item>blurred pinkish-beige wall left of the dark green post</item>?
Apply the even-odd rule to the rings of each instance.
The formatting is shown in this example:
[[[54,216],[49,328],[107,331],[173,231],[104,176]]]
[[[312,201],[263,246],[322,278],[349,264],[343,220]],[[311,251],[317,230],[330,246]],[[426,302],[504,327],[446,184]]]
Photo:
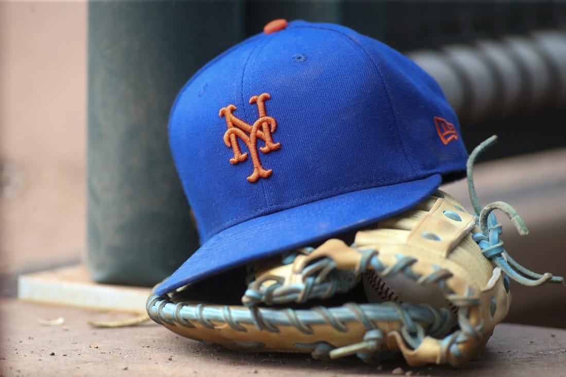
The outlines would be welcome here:
[[[0,0],[1,270],[85,245],[87,6]]]

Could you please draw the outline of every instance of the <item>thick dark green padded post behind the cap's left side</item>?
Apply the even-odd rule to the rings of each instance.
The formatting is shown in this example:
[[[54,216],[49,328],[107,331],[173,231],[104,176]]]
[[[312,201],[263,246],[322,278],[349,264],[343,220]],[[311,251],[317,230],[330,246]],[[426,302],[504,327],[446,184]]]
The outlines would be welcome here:
[[[86,264],[152,286],[198,247],[170,156],[179,89],[243,38],[237,1],[89,1]]]

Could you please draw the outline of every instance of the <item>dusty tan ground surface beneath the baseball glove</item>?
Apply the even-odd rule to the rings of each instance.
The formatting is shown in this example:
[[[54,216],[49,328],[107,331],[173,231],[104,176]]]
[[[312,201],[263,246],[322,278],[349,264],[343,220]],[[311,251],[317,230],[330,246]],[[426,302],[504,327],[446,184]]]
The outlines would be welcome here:
[[[177,336],[161,325],[100,329],[89,320],[125,314],[0,301],[2,376],[566,376],[566,330],[499,324],[482,357],[462,369],[411,368],[402,361],[366,365],[357,358],[335,362],[308,354],[233,352]],[[59,325],[41,321],[63,318]],[[399,370],[398,370],[399,371]]]

